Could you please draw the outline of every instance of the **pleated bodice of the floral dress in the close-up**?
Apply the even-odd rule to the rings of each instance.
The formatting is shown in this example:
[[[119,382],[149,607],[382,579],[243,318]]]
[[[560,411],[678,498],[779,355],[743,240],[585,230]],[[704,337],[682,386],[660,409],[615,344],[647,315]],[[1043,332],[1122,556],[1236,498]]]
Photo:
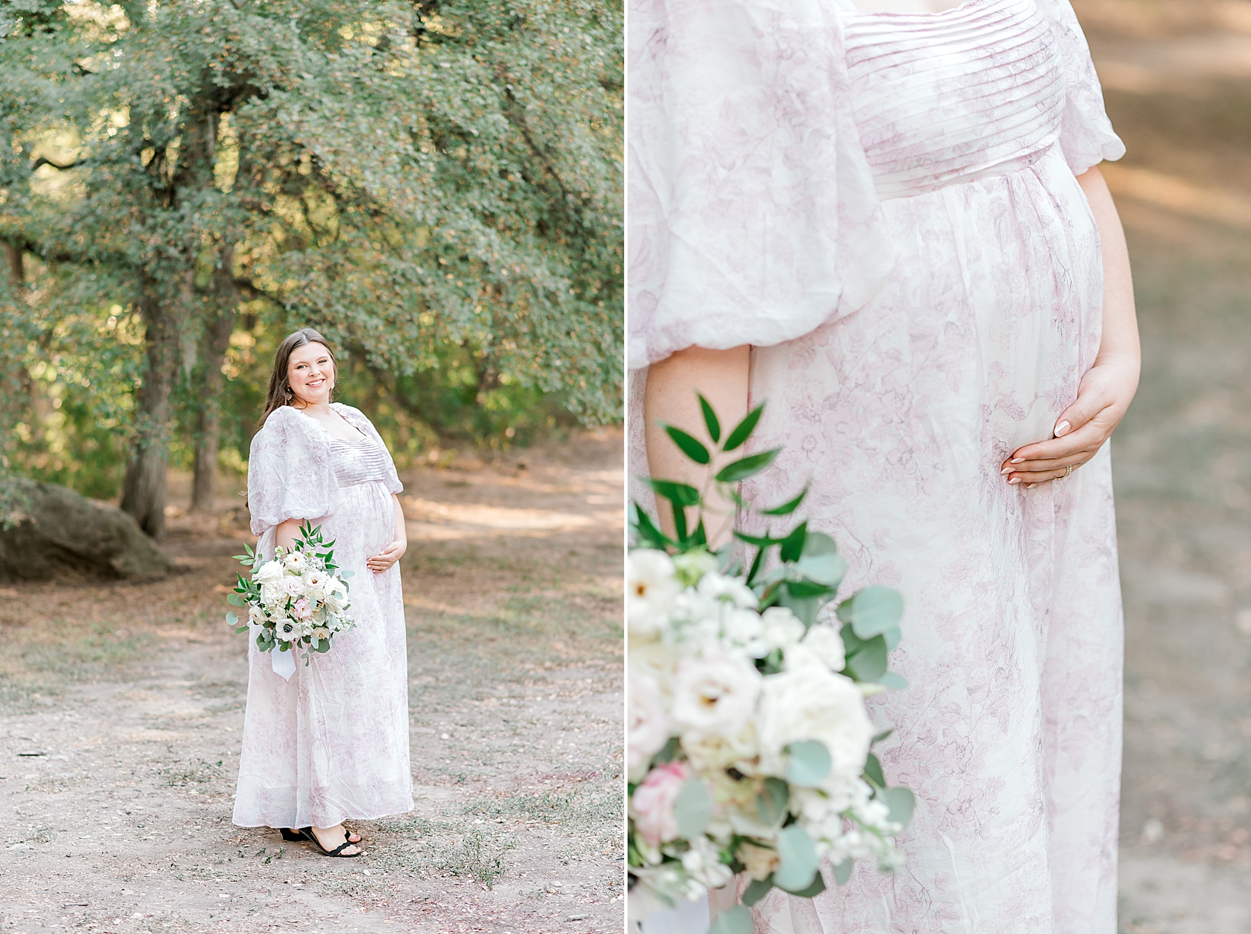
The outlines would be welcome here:
[[[1032,0],[842,15],[856,125],[883,200],[1013,171],[1060,138],[1063,68]]]

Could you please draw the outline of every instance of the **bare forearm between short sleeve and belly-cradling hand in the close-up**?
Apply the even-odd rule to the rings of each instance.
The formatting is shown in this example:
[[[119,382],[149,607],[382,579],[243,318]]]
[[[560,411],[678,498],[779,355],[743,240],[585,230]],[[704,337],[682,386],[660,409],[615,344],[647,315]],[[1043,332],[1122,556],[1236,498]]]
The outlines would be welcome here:
[[[1138,320],[1133,309],[1133,279],[1121,216],[1116,213],[1112,193],[1107,190],[1107,181],[1098,166],[1078,175],[1077,183],[1090,201],[1103,251],[1103,336],[1096,363],[1121,363],[1132,370],[1137,386],[1141,365]]]

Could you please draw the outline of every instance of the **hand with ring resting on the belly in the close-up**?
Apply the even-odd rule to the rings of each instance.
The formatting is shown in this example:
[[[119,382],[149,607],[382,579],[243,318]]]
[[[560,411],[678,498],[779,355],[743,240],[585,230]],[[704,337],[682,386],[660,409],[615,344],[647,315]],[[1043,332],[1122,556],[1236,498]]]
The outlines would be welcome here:
[[[1082,376],[1077,400],[1056,420],[1055,438],[1015,450],[1001,464],[1003,479],[1033,488],[1045,480],[1068,476],[1093,458],[1121,424],[1137,388],[1136,359],[1096,360]]]

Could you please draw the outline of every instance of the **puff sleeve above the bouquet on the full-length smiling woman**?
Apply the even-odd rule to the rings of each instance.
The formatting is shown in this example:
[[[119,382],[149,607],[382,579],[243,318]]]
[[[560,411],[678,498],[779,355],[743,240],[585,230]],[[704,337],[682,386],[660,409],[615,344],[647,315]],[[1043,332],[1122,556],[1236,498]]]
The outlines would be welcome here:
[[[339,484],[325,431],[290,406],[270,413],[251,439],[248,509],[261,535],[288,519],[320,519],[334,511]]]

